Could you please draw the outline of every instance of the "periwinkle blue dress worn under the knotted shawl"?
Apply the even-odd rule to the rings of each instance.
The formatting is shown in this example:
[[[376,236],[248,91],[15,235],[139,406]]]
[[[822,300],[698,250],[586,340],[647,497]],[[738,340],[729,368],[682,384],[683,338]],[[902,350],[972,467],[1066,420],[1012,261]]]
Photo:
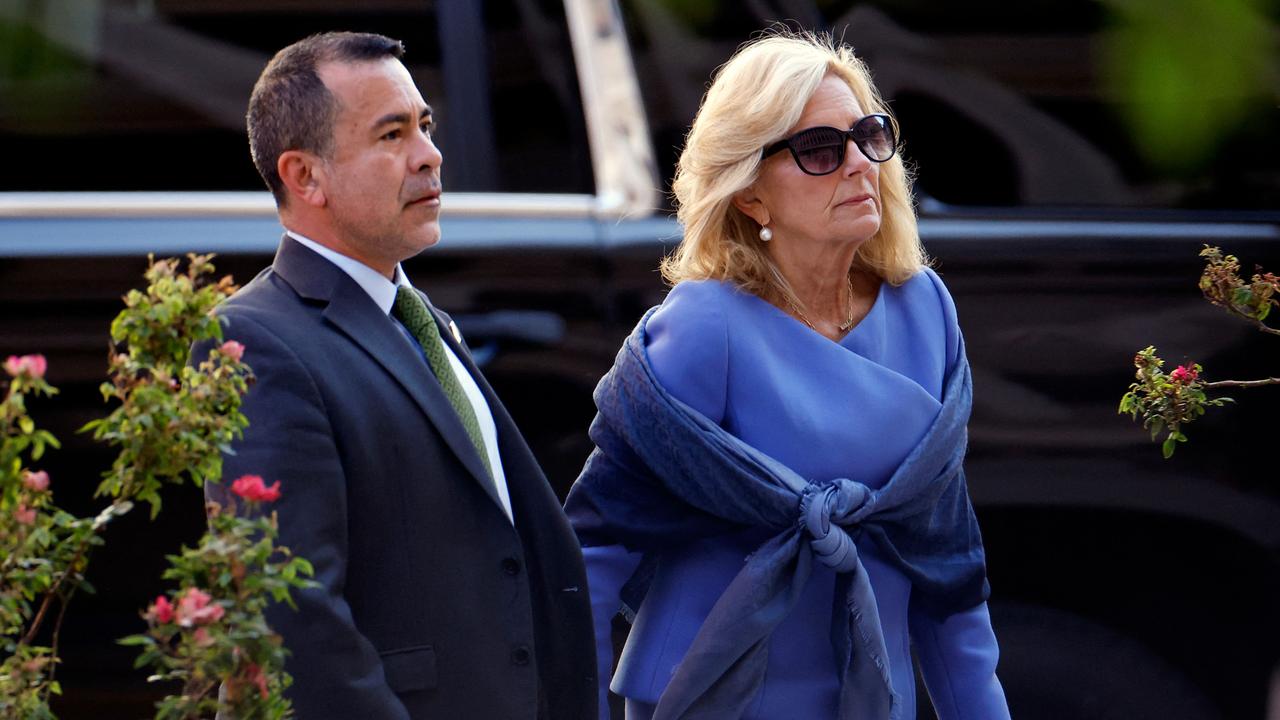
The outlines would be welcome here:
[[[676,286],[649,319],[648,354],[663,387],[731,434],[812,480],[883,486],[941,409],[960,348],[955,306],[929,269],[900,287],[882,283],[868,315],[840,342],[754,295],[717,281]],[[744,557],[768,537],[749,529],[659,557],[612,689],[628,717],[652,712]],[[911,603],[911,584],[858,541],[877,598],[895,692],[915,716],[911,643],[941,720],[1009,716],[986,603],[933,616]],[[608,717],[611,620],[640,561],[622,546],[584,550]],[[831,646],[836,575],[815,566],[800,603],[769,646],[764,687],[748,719],[835,717],[838,678]]]

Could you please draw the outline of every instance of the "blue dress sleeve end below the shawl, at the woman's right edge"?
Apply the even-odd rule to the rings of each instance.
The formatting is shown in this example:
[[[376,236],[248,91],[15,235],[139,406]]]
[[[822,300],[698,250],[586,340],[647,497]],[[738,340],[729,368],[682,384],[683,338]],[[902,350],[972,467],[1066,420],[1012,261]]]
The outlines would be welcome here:
[[[987,603],[938,616],[911,603],[911,641],[938,720],[1007,720]]]

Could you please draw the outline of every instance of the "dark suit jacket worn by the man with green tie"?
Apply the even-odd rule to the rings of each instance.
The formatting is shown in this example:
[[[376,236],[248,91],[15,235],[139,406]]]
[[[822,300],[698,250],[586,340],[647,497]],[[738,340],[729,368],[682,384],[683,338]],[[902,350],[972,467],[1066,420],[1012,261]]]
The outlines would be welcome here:
[[[280,543],[323,585],[268,614],[298,717],[594,719],[577,541],[452,333],[498,427],[515,527],[425,359],[339,268],[285,237],[219,314],[257,375],[224,480],[280,480]]]

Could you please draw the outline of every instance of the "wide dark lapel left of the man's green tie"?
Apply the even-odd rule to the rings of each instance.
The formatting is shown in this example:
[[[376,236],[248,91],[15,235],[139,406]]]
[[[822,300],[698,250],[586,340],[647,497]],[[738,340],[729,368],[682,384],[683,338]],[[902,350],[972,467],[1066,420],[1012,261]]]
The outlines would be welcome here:
[[[273,266],[302,297],[328,302],[324,309],[325,320],[333,323],[396,378],[435,425],[449,450],[500,507],[497,489],[458,414],[440,389],[426,359],[401,333],[396,322],[384,315],[369,293],[340,268],[288,236],[280,242]],[[440,327],[447,328],[443,324]],[[448,341],[453,340],[449,332],[442,334]]]

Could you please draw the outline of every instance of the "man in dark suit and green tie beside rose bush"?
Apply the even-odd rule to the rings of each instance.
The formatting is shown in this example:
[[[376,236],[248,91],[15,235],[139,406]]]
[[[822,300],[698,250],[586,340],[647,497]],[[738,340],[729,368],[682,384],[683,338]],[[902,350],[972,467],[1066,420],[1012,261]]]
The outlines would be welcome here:
[[[399,266],[439,240],[442,163],[402,53],[314,36],[253,88],[253,161],[288,232],[219,309],[257,375],[224,477],[280,480],[280,542],[315,565],[321,587],[268,615],[303,720],[594,719],[573,533]]]

